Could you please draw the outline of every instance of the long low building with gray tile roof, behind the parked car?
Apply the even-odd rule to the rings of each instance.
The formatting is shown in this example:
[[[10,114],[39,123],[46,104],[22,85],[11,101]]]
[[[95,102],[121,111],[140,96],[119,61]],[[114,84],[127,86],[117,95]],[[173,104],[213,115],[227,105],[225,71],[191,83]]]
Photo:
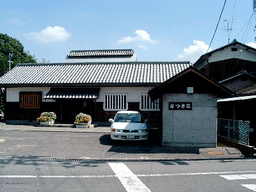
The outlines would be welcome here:
[[[74,58],[77,63],[17,65],[0,80],[6,94],[6,123],[33,124],[44,111],[55,112],[56,122],[74,122],[83,112],[100,123],[108,122],[116,111],[128,109],[141,111],[152,124],[159,123],[159,100],[151,102],[148,90],[179,74],[190,63],[137,62],[131,61],[130,49],[120,50],[121,54],[126,51],[126,56],[115,51],[100,56],[102,62],[88,62],[97,54],[91,51],[89,58],[82,57],[83,62]],[[111,57],[120,61],[106,62]]]

